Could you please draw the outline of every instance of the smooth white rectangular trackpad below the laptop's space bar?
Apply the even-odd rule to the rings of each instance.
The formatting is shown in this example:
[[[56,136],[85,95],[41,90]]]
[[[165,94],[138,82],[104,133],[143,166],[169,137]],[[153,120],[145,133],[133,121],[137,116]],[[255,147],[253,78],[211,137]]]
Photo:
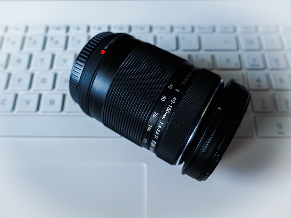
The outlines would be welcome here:
[[[6,174],[0,192],[7,198],[0,203],[8,217],[146,216],[146,165],[142,163],[26,165],[14,166]]]

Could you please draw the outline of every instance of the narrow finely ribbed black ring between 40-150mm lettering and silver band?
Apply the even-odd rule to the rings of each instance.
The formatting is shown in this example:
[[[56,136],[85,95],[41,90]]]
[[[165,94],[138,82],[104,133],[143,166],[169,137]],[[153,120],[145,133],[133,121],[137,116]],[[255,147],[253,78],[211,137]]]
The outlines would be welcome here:
[[[156,155],[172,165],[221,80],[205,69],[198,70],[200,72],[182,97],[157,148]]]

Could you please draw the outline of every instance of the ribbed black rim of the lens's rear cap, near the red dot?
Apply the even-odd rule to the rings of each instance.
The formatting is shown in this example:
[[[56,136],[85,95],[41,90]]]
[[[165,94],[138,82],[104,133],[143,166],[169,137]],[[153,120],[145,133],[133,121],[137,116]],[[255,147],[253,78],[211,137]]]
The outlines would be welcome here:
[[[82,49],[82,51],[79,53],[78,57],[75,60],[74,66],[71,71],[70,76],[70,94],[74,101],[77,103],[79,102],[78,98],[78,86],[81,78],[81,74],[84,70],[84,67],[92,55],[92,53],[95,51],[95,48],[99,45],[99,43],[107,36],[113,35],[113,33],[110,32],[104,32],[96,35],[91,40],[88,41],[88,43],[85,45],[85,47]],[[83,102],[84,104],[84,102]],[[80,105],[81,106],[81,105]],[[86,105],[87,107],[87,105]],[[82,106],[81,106],[82,108]],[[83,107],[84,108],[84,107]]]

